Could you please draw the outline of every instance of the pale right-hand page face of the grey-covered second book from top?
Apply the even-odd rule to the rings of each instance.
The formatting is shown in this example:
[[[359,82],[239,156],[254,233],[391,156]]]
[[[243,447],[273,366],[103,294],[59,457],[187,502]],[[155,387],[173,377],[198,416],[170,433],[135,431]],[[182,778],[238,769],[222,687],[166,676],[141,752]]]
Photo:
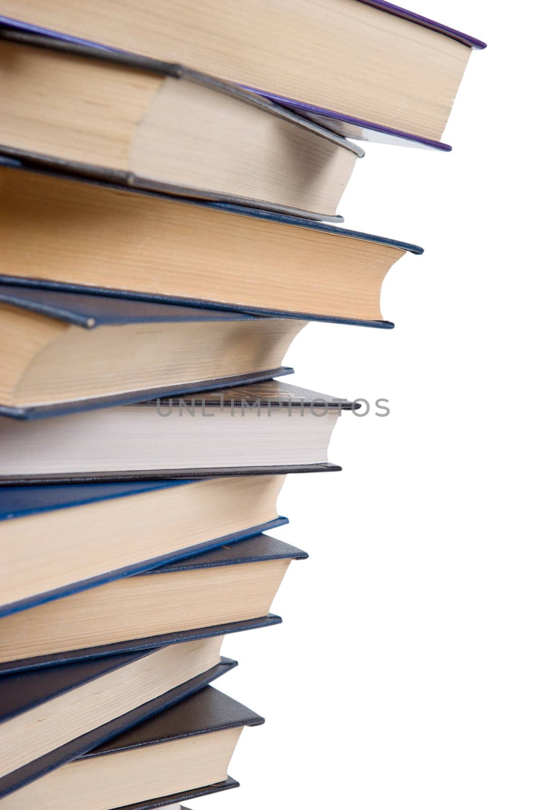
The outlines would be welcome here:
[[[355,163],[312,130],[188,79],[164,79],[130,148],[143,177],[326,215]]]

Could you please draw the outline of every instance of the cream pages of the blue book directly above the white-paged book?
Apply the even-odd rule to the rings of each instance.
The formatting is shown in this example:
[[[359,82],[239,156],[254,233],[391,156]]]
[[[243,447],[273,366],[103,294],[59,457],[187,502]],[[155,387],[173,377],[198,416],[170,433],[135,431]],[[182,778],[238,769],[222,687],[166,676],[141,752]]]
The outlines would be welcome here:
[[[190,382],[271,371],[280,367],[292,339],[305,326],[304,321],[278,318],[138,323],[92,330],[61,323],[56,331],[50,330],[53,339],[42,343],[41,351],[21,371],[15,363],[23,364],[39,346],[37,339],[32,341],[32,328],[25,328],[32,327],[32,318],[33,313],[21,313],[18,323],[8,325],[0,312],[0,335],[5,333],[7,346],[14,347],[6,357],[8,372],[10,358],[14,360],[11,379],[17,379],[19,370],[11,389],[10,375],[4,386],[0,377],[2,404],[71,402],[160,386],[171,390]],[[2,348],[0,344],[0,358]]]

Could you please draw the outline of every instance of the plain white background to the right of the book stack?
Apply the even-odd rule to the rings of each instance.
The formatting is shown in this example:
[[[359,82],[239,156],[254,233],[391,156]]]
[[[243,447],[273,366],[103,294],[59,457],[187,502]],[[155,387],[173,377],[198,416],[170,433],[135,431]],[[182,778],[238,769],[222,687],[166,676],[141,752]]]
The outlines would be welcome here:
[[[387,276],[395,330],[311,324],[287,357],[287,382],[391,413],[345,415],[344,471],[287,481],[275,534],[310,558],[275,600],[283,625],[226,640],[240,666],[217,684],[267,723],[241,735],[241,788],[194,808],[542,807],[540,19],[412,4],[489,43],[454,149],[366,144],[340,210],[425,254]]]

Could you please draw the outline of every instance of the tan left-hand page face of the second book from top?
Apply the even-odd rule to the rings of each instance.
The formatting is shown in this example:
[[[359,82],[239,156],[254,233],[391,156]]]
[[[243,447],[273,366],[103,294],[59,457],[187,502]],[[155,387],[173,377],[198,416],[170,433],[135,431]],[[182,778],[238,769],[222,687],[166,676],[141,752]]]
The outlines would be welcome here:
[[[130,141],[162,77],[0,40],[0,143],[130,168]]]

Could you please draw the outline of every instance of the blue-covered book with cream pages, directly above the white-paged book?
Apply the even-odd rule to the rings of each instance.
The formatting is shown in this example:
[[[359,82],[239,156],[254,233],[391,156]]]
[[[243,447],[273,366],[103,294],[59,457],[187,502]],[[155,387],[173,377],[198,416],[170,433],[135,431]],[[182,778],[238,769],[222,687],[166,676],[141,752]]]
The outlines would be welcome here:
[[[0,283],[0,415],[212,390],[292,373],[304,321]]]

